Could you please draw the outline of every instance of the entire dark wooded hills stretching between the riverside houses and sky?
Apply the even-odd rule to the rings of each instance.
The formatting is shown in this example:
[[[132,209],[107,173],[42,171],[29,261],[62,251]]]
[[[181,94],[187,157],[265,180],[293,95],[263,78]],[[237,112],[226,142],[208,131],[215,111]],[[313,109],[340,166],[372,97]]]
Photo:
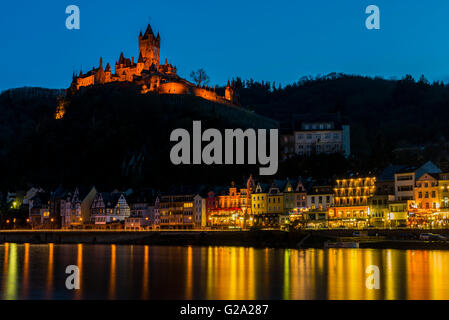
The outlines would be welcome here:
[[[195,97],[170,102],[140,95],[133,86],[93,87],[71,98],[62,120],[53,118],[58,90],[3,92],[0,188],[242,183],[250,173],[257,175],[259,167],[173,166],[169,135],[175,128],[191,128],[193,120],[202,120],[203,130],[273,126],[258,115],[282,123],[295,114],[339,112],[351,126],[349,159],[339,155],[290,159],[280,164],[276,178],[332,178],[348,171],[375,172],[390,162],[447,160],[449,87],[441,82],[330,74],[304,77],[283,87],[240,78],[235,85],[240,110]]]

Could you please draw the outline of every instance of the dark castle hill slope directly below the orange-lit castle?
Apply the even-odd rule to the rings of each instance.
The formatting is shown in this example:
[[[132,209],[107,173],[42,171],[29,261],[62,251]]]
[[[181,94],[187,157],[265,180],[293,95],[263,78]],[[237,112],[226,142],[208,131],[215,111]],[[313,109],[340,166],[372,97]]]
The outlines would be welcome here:
[[[55,97],[44,102],[4,99],[0,108],[20,109],[19,139],[5,141],[3,187],[26,183],[97,187],[216,183],[249,171],[245,166],[174,166],[169,136],[173,129],[275,128],[276,121],[246,109],[194,96],[141,95],[133,86],[105,85],[82,90],[69,101],[61,120],[52,118]],[[20,115],[19,115],[20,113]],[[9,120],[11,121],[11,120]],[[11,124],[6,127],[15,127]],[[11,136],[10,136],[11,137]]]

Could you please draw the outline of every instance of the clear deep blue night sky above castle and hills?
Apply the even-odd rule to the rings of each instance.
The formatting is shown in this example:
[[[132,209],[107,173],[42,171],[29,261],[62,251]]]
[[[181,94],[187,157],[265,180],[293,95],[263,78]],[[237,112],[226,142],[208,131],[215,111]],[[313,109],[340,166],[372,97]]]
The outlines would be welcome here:
[[[65,8],[78,5],[81,29]],[[380,8],[380,30],[365,28],[365,8]],[[343,72],[449,80],[449,1],[3,1],[0,91],[66,88],[72,72],[113,67],[121,51],[137,59],[139,31],[161,34],[168,58],[188,78],[204,68],[211,85],[232,77],[297,81]]]

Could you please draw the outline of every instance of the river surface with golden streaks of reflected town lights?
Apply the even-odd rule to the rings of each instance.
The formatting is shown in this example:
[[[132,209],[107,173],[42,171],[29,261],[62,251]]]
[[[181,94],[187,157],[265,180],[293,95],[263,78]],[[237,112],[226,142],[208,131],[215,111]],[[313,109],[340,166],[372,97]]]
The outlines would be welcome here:
[[[80,290],[65,288],[76,264]],[[366,267],[380,290],[366,288]],[[2,299],[449,299],[449,251],[0,245]],[[151,272],[150,272],[151,271]]]

